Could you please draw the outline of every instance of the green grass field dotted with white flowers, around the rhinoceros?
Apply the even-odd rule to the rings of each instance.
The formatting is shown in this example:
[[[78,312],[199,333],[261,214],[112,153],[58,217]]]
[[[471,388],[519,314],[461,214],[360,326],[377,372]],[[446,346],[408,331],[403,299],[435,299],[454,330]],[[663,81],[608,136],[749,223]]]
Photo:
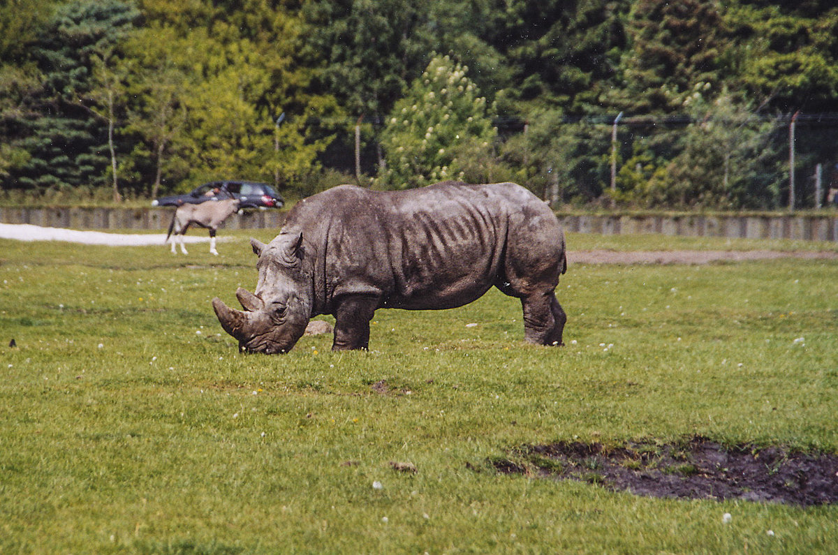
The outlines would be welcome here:
[[[209,300],[233,305],[256,259],[248,232],[223,235],[220,257],[0,241],[0,552],[838,547],[835,506],[651,499],[489,464],[574,438],[838,452],[838,262],[575,265],[557,289],[562,349],[525,345],[520,304],[491,292],[462,309],[380,310],[370,352],[334,354],[321,335],[240,355]]]

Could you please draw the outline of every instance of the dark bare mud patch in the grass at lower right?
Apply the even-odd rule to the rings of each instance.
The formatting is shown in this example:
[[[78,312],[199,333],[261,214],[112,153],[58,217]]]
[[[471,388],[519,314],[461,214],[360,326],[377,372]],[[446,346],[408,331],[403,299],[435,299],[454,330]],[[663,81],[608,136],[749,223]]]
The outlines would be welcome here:
[[[635,495],[742,499],[812,506],[838,503],[838,456],[751,445],[553,443],[515,449],[491,461],[503,474],[581,480]]]

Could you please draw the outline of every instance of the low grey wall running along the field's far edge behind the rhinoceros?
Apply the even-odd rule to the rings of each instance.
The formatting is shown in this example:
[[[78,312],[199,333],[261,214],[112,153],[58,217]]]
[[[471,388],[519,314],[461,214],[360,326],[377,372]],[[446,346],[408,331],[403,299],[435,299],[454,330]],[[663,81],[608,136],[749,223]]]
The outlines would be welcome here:
[[[166,230],[173,209],[165,208],[3,208],[0,222],[70,229]],[[233,215],[227,229],[279,229],[285,212],[253,210]],[[838,241],[836,215],[573,215],[559,214],[566,231],[623,235]]]

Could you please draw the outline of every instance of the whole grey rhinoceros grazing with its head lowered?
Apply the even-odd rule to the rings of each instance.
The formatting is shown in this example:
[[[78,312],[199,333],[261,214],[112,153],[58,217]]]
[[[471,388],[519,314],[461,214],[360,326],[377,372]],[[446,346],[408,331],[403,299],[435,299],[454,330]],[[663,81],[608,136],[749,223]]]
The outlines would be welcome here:
[[[512,183],[444,182],[371,191],[341,185],[297,203],[259,256],[244,311],[213,308],[241,350],[285,353],[318,314],[335,317],[333,350],[367,349],[376,309],[451,309],[489,288],[520,298],[525,340],[561,345],[553,293],[566,271],[556,216]]]

